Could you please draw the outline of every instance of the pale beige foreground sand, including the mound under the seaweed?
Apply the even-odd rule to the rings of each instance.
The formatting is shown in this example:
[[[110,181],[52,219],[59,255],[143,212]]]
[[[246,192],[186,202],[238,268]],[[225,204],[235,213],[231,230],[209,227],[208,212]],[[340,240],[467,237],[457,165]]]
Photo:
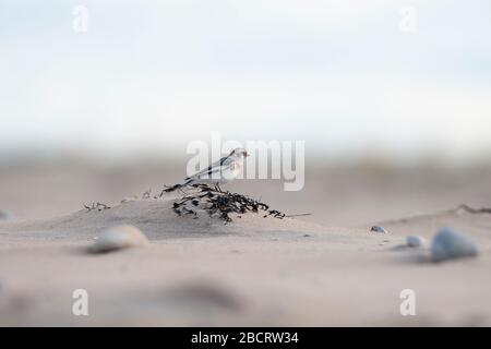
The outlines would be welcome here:
[[[491,325],[489,214],[380,221],[381,234],[258,214],[227,225],[178,217],[175,198],[0,222],[0,325]],[[151,245],[86,252],[121,224]],[[407,234],[431,240],[442,226],[471,236],[479,256],[434,264],[426,249],[404,246]],[[75,289],[88,292],[88,316],[72,314]],[[403,289],[416,292],[415,316],[400,315]]]

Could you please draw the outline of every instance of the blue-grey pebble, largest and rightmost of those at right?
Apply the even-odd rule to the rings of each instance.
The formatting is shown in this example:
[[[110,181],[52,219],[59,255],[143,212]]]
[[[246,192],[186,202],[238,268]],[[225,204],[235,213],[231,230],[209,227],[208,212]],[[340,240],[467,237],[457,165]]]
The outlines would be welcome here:
[[[478,254],[476,243],[466,234],[442,228],[431,242],[431,256],[434,262],[471,257]]]

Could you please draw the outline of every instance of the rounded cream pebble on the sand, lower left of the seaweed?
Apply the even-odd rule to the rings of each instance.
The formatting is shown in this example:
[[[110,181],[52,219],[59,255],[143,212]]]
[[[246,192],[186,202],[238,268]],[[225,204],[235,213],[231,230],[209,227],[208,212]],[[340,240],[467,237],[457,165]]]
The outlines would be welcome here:
[[[144,248],[149,244],[148,239],[133,226],[117,226],[106,229],[94,241],[89,251],[101,253],[127,248]]]

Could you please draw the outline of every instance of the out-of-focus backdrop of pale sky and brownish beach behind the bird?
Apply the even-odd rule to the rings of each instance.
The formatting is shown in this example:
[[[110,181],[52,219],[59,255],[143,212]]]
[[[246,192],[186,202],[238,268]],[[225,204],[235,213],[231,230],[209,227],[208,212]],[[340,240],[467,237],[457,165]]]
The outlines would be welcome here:
[[[2,0],[0,209],[156,193],[213,131],[306,141],[304,190],[230,190],[312,221],[489,206],[490,15],[487,0]]]

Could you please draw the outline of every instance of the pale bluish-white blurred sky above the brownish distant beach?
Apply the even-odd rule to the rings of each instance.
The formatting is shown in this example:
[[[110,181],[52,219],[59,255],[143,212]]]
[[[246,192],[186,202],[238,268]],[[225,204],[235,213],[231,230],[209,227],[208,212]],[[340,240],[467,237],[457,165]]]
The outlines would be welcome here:
[[[0,156],[184,155],[212,131],[333,159],[482,158],[491,2],[0,1]]]

